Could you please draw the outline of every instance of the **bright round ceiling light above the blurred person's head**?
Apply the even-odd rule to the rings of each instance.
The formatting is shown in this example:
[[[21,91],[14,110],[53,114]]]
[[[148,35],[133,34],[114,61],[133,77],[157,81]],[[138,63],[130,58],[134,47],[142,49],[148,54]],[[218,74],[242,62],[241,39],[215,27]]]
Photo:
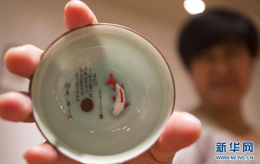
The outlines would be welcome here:
[[[198,14],[205,10],[205,4],[202,0],[185,0],[184,8],[190,14]]]

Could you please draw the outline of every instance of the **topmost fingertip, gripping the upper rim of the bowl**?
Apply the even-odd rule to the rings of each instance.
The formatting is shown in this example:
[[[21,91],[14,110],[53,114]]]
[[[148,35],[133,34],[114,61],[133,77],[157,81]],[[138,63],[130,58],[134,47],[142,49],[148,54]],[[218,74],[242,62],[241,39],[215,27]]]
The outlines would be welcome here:
[[[69,1],[64,8],[64,22],[68,30],[98,23],[96,16],[82,1]]]

